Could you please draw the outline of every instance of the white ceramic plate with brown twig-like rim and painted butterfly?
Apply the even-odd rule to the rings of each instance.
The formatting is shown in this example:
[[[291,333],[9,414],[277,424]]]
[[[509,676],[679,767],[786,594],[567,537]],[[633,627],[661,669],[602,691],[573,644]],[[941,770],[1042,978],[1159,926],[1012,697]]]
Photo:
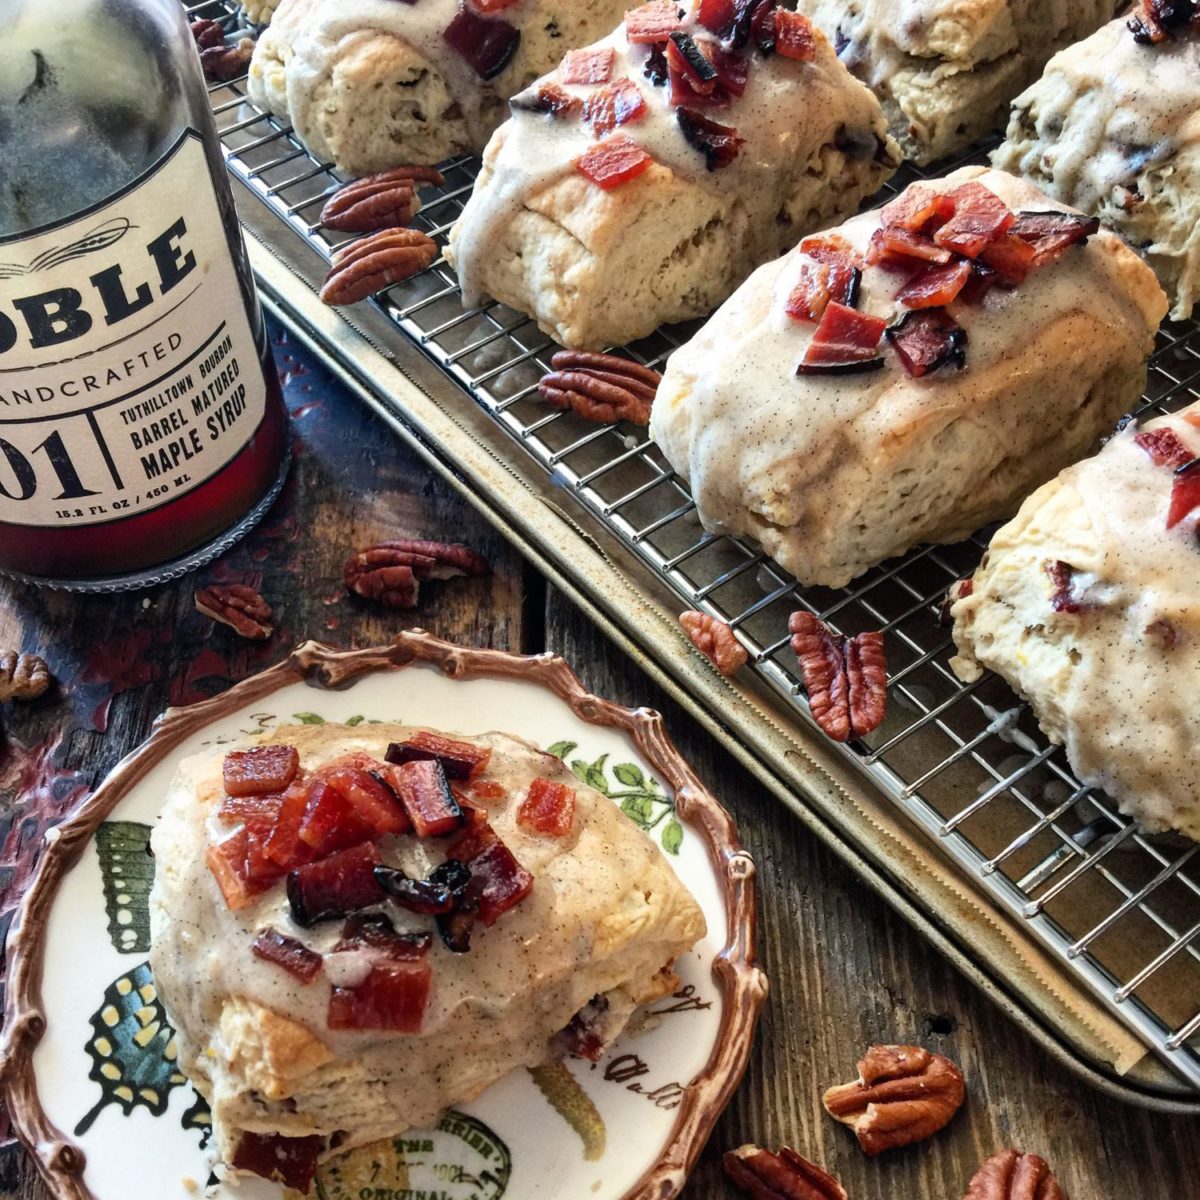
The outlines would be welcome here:
[[[178,762],[294,721],[502,730],[562,756],[666,851],[708,920],[649,1007],[599,1063],[515,1072],[436,1129],[325,1164],[322,1200],[665,1200],[682,1187],[740,1078],[766,994],[754,966],[754,865],[661,720],[588,695],[562,659],[469,650],[421,632],[386,649],[307,643],[223,695],[160,718],[50,830],[8,940],[2,1082],[52,1192],[70,1200],[272,1198],[210,1180],[208,1112],[175,1064],[148,965],[146,852]]]

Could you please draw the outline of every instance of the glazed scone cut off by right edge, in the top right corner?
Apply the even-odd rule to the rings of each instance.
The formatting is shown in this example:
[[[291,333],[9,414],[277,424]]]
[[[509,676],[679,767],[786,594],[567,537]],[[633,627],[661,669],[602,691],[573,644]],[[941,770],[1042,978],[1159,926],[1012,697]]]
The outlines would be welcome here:
[[[992,162],[1098,216],[1153,268],[1171,316],[1190,316],[1200,286],[1200,31],[1139,42],[1121,18],[1056,54],[1013,104]]]

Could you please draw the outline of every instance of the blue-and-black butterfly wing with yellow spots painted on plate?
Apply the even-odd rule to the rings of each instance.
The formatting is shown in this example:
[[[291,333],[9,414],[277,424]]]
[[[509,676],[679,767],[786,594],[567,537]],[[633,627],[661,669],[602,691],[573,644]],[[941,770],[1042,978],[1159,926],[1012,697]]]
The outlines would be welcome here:
[[[172,1088],[187,1080],[175,1061],[175,1031],[158,1001],[149,962],[109,984],[90,1024],[92,1036],[84,1045],[91,1058],[88,1078],[100,1084],[101,1096],[76,1134],[86,1133],[110,1104],[120,1105],[126,1116],[139,1106],[162,1116]]]

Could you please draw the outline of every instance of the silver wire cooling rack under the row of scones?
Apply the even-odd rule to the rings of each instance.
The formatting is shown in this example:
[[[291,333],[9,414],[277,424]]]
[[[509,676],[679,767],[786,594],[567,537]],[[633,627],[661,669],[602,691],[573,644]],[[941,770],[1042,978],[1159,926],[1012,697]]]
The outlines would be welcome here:
[[[187,11],[222,20],[236,38],[228,0]],[[328,259],[346,238],[326,233],[319,212],[343,180],[310,157],[284,121],[254,108],[244,79],[210,90],[229,170]],[[415,224],[444,241],[476,167],[474,157],[444,164],[445,186],[424,193]],[[919,178],[905,167],[876,203]],[[703,530],[685,484],[644,430],[596,426],[541,404],[536,385],[554,346],[502,305],[464,310],[440,259],[372,302],[397,336],[461,385],[463,403],[479,404],[647,571],[688,607],[727,620],[750,652],[749,670],[793,707],[797,721],[814,724],[788,648],[788,614],[808,608],[847,635],[882,629],[888,718],[841,752],[1200,1092],[1200,846],[1139,832],[1105,794],[1073,778],[1062,751],[997,677],[962,684],[949,668],[954,647],[942,602],[949,584],[974,569],[990,530],[918,548],[847,588],[802,589],[752,545]],[[696,328],[664,329],[624,352],[661,367]],[[1198,383],[1200,328],[1164,325],[1141,412],[1193,401]]]

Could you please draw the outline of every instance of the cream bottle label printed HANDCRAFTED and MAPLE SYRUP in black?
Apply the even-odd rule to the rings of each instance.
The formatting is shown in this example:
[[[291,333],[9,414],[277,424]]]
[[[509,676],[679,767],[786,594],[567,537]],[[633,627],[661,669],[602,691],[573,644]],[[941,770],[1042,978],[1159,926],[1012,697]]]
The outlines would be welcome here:
[[[0,238],[0,521],[169,504],[238,455],[265,403],[194,131],[118,196]]]

